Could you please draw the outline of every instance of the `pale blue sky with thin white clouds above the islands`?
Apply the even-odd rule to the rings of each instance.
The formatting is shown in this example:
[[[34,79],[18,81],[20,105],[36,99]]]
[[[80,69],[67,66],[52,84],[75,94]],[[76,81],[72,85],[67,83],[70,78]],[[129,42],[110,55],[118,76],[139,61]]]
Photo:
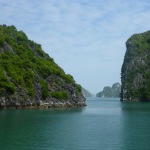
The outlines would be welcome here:
[[[127,39],[150,30],[149,0],[0,0],[14,25],[93,94],[120,81]]]

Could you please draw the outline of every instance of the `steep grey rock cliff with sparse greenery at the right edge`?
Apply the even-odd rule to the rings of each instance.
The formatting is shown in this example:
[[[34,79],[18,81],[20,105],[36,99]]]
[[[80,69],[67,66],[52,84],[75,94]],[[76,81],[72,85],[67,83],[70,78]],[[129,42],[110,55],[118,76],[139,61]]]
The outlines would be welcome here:
[[[131,36],[126,47],[121,69],[121,100],[150,101],[150,31]]]

